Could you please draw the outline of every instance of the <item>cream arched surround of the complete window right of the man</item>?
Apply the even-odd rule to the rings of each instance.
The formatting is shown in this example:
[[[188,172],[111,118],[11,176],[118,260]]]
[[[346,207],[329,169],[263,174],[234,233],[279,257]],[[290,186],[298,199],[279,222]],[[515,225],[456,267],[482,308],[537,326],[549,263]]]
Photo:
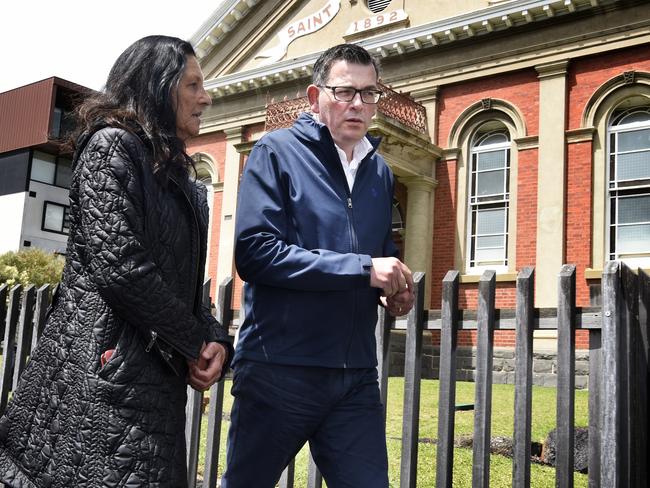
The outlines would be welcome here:
[[[469,168],[474,134],[486,122],[501,124],[510,136],[510,175],[509,175],[509,209],[507,265],[501,267],[470,267],[468,229],[471,222],[469,215]],[[467,107],[456,119],[449,133],[449,152],[457,161],[457,195],[456,201],[456,252],[454,266],[464,274],[480,275],[484,269],[494,269],[498,274],[516,273],[516,235],[517,235],[517,174],[518,144],[517,140],[526,138],[526,125],[522,113],[512,104],[500,99],[488,99]]]

